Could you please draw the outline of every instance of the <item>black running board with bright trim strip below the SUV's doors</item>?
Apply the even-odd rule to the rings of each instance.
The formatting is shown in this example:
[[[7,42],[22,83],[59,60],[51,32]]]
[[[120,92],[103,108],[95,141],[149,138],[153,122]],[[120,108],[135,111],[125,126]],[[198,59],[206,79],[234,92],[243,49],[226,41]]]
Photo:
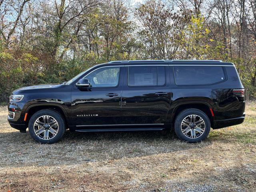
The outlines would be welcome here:
[[[78,132],[109,132],[109,131],[160,131],[162,127],[150,127],[150,128],[106,128],[106,129],[77,129]]]

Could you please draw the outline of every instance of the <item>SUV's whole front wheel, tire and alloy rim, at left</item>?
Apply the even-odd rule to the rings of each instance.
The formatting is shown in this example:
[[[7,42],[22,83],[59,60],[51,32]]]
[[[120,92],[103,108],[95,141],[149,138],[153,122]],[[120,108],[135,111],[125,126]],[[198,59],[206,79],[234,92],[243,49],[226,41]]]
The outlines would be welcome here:
[[[28,123],[31,137],[40,143],[54,143],[62,138],[66,125],[62,115],[50,109],[36,112]]]

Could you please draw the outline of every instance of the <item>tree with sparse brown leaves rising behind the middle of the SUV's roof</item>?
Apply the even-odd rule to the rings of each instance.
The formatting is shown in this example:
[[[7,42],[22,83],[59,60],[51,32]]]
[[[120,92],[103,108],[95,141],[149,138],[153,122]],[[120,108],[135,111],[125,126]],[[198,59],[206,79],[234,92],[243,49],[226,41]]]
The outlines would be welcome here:
[[[141,4],[135,14],[140,26],[140,40],[149,58],[176,58],[188,16],[174,12],[156,0]]]

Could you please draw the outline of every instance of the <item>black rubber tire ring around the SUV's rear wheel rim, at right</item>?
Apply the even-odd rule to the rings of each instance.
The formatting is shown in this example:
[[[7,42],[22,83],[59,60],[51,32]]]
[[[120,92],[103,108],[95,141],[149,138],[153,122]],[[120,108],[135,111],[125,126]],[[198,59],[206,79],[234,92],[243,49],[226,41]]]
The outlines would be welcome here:
[[[181,130],[182,120],[186,116],[189,116],[189,115],[192,115],[192,114],[200,116],[205,122],[204,133],[199,138],[195,138],[195,139],[186,137],[182,133],[182,130]],[[208,136],[208,134],[210,132],[210,128],[211,128],[211,123],[210,123],[210,120],[209,120],[208,116],[204,112],[202,112],[201,110],[194,109],[194,108],[183,110],[182,112],[180,112],[180,114],[178,114],[178,116],[176,117],[176,120],[175,120],[175,123],[174,123],[174,131],[175,131],[176,135],[178,136],[178,138],[180,138],[184,141],[188,141],[190,143],[200,142],[200,141],[204,140]]]

